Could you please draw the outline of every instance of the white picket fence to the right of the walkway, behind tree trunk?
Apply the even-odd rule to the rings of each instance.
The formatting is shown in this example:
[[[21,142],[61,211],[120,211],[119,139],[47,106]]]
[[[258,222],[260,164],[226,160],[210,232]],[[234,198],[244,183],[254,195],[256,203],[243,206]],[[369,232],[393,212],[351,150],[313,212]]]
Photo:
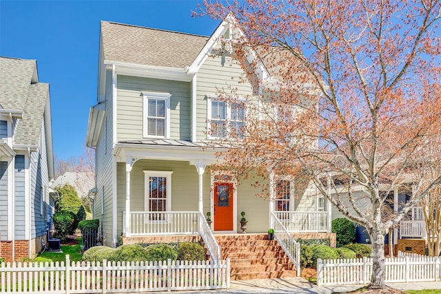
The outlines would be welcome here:
[[[367,284],[371,280],[372,258],[317,260],[318,286]],[[386,258],[385,282],[440,281],[441,259],[424,255]]]

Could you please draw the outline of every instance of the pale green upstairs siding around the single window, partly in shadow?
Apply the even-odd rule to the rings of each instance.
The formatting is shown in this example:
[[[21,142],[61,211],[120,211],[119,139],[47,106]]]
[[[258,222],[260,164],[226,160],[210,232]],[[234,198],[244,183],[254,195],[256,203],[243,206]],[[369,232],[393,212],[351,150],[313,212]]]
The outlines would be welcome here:
[[[170,98],[170,138],[189,140],[191,84],[134,76],[118,76],[117,140],[141,140],[143,138],[142,91],[172,94]]]

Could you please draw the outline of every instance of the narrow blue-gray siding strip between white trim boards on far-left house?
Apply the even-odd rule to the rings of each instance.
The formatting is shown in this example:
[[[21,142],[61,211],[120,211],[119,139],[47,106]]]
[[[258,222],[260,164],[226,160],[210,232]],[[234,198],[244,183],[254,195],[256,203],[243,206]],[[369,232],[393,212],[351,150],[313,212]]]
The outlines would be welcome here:
[[[25,156],[15,156],[14,232],[16,240],[25,240]]]

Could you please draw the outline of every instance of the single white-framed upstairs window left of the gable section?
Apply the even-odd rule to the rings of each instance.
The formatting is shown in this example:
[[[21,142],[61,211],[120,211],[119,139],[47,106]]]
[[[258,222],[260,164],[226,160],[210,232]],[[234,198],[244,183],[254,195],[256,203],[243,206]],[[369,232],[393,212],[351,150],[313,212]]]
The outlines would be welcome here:
[[[143,92],[143,136],[170,137],[170,93]]]

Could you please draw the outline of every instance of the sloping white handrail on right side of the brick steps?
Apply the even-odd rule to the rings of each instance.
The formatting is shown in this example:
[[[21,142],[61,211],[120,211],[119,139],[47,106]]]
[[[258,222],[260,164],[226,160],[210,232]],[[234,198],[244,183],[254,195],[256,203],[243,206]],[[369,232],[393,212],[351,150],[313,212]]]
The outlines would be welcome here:
[[[271,224],[274,229],[274,237],[296,267],[297,276],[300,277],[300,243],[292,238],[274,211],[271,211]]]

